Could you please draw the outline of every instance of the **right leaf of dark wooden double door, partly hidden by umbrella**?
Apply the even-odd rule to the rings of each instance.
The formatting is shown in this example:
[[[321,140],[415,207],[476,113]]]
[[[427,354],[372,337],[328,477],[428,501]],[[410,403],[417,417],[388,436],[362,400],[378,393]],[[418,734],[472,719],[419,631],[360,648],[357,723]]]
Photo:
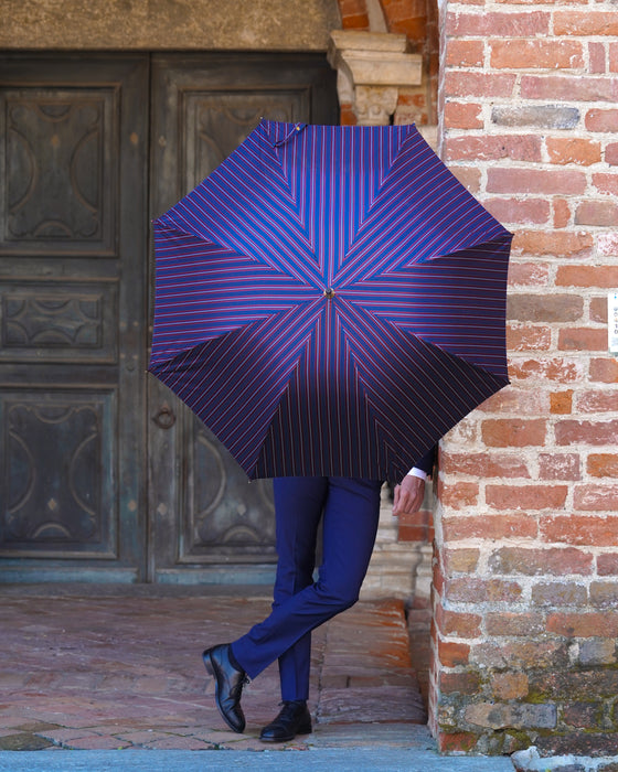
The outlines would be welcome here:
[[[152,84],[153,217],[262,117],[337,122],[334,73],[321,56],[156,56]],[[248,483],[216,438],[153,378],[149,405],[152,579],[271,581],[270,483]]]

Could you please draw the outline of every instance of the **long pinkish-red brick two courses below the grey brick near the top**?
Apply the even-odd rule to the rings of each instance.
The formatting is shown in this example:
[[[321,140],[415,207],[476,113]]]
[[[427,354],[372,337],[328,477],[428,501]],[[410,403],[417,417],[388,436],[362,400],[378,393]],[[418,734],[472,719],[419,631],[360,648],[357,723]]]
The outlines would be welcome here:
[[[487,190],[489,193],[579,195],[586,191],[586,174],[578,169],[544,170],[511,167],[488,169]]]

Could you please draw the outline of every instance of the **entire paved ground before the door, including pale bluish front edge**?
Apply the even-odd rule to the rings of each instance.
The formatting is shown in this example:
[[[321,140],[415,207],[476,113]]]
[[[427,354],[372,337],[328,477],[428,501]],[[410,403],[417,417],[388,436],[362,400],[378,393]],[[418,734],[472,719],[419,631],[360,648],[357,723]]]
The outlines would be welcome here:
[[[360,602],[315,632],[312,735],[259,742],[278,712],[276,665],[245,687],[245,733],[228,731],[201,652],[268,612],[269,599],[255,592],[0,588],[0,771],[270,770],[300,761],[307,770],[512,771],[508,759],[437,754],[397,600]]]

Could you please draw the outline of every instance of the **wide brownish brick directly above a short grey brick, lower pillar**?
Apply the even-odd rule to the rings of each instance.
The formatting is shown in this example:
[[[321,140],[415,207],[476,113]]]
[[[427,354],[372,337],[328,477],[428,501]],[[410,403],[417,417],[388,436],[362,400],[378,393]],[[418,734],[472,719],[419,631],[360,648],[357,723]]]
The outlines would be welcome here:
[[[592,572],[593,555],[575,547],[501,547],[489,559],[493,573],[524,573],[526,576],[566,576]]]

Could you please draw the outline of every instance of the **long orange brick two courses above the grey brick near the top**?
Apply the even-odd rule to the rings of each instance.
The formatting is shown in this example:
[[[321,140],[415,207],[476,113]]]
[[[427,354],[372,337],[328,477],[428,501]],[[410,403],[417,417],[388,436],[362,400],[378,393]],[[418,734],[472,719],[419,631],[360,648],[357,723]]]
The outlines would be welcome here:
[[[494,40],[491,41],[491,66],[497,69],[579,69],[584,51],[577,41]]]

